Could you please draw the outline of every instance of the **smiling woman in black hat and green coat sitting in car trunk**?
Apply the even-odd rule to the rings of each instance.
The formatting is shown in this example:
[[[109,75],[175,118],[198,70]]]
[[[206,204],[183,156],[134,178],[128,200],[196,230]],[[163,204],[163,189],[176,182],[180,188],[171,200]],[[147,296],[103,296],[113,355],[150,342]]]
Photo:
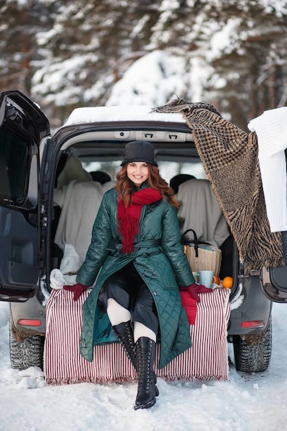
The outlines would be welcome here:
[[[160,177],[153,145],[128,143],[121,166],[98,210],[77,284],[64,288],[76,300],[96,280],[83,308],[81,355],[92,361],[94,344],[119,339],[138,373],[134,408],[149,408],[158,396],[156,342],[159,368],[191,346],[178,286],[195,280],[180,244],[178,202]]]

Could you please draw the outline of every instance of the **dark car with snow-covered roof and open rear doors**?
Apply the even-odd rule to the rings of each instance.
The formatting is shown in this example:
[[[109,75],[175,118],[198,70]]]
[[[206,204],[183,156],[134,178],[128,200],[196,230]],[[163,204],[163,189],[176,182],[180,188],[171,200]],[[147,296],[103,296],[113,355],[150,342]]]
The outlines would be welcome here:
[[[167,181],[182,172],[206,176],[182,115],[147,106],[76,108],[52,135],[36,103],[18,90],[3,92],[0,137],[0,299],[10,302],[11,364],[43,367],[50,274],[63,257],[54,243],[63,160],[72,154],[85,172],[105,171],[114,180],[125,144],[149,140]],[[230,271],[222,276],[233,278],[227,339],[235,366],[262,372],[270,364],[273,301],[287,301],[286,269],[246,271],[232,235],[225,255]]]

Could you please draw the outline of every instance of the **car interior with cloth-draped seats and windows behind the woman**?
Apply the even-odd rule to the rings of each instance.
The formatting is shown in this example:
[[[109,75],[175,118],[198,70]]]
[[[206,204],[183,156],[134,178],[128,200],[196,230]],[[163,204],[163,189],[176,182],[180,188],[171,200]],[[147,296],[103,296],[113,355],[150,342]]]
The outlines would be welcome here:
[[[56,169],[54,182],[54,218],[51,225],[52,269],[63,269],[66,265],[65,253],[68,251],[67,248],[65,249],[65,244],[73,246],[73,250],[69,249],[69,253],[79,256],[78,264],[72,269],[65,266],[65,271],[69,274],[73,271],[76,273],[81,266],[103,193],[115,185],[116,173],[123,160],[125,143],[126,141],[122,141],[119,145],[118,140],[116,143],[111,140],[93,140],[74,143],[69,147],[67,143],[63,145],[64,151]],[[175,145],[156,141],[153,145],[160,174],[169,185],[175,187],[176,196],[181,202],[178,215],[182,233],[189,228],[200,229],[199,240],[209,242],[222,250],[220,279],[226,275],[233,275],[233,238],[219,204],[215,202],[215,195],[194,144],[184,142]],[[186,184],[183,188],[184,182]],[[193,199],[191,199],[191,188],[194,190],[194,187],[198,191],[192,193]],[[202,187],[207,188],[208,191],[202,193]],[[186,219],[190,222],[198,211],[201,214],[197,216],[197,226],[184,223]],[[208,214],[209,217],[206,217]],[[207,229],[208,224],[213,224],[213,238],[211,238],[212,229]],[[224,225],[223,228],[222,225]],[[224,233],[218,237],[216,230],[220,229],[221,231],[223,229]],[[208,238],[207,232],[209,232]],[[216,236],[220,242],[218,238],[215,240]],[[192,240],[192,237],[189,239]],[[76,275],[73,275],[75,278]]]

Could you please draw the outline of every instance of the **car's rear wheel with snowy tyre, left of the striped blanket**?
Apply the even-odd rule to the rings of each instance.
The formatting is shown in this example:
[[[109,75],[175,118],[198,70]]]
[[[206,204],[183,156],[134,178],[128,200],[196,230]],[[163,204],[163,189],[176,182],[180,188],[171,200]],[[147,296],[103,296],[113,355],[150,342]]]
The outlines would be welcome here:
[[[12,368],[25,370],[36,366],[43,370],[43,350],[45,337],[33,335],[18,342],[10,322],[10,361]]]

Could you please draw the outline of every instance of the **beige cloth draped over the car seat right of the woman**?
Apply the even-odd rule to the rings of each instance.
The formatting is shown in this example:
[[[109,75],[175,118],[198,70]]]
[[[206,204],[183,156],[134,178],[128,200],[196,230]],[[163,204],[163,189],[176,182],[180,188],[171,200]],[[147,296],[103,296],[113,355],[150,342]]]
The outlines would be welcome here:
[[[228,226],[209,180],[183,182],[176,198],[182,202],[178,210],[178,218],[184,218],[182,233],[193,229],[198,239],[216,247],[226,240]]]

